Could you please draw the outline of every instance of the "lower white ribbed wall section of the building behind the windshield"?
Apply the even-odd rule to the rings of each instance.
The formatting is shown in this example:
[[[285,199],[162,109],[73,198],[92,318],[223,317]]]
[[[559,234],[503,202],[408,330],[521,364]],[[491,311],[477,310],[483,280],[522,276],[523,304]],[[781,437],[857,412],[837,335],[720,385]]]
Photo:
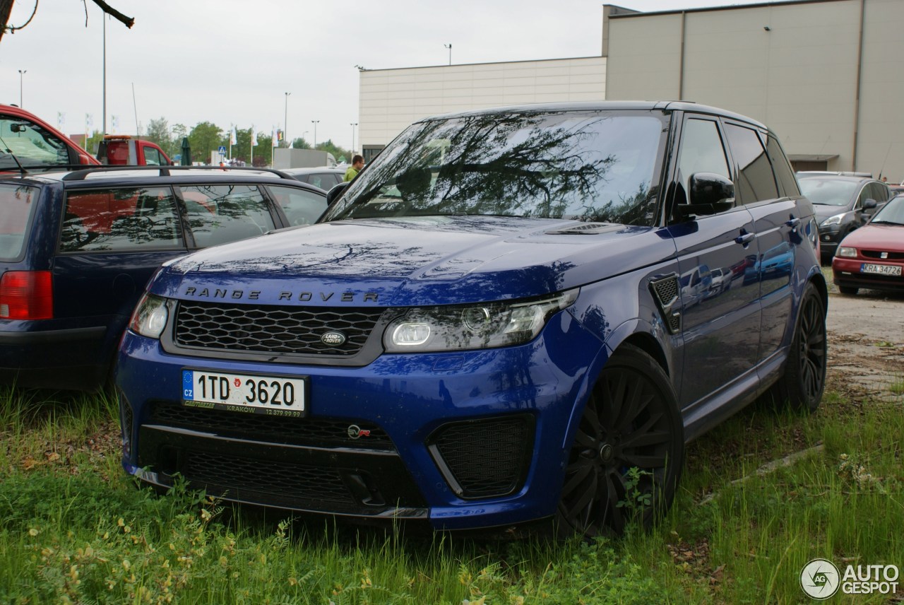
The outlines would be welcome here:
[[[359,72],[360,145],[386,145],[420,118],[521,103],[603,100],[606,58]]]

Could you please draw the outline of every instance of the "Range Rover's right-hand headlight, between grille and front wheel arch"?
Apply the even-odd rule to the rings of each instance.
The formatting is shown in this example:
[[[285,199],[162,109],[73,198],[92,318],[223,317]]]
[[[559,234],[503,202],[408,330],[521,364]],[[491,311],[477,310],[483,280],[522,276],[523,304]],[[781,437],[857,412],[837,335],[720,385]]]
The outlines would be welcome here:
[[[383,345],[391,353],[521,345],[540,334],[550,317],[576,298],[578,290],[573,289],[532,300],[412,308],[387,326]]]

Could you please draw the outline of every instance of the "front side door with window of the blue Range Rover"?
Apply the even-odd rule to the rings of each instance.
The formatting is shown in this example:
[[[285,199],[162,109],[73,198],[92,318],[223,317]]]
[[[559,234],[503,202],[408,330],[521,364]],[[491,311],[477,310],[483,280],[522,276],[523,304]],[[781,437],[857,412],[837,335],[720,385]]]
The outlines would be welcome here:
[[[678,150],[674,203],[688,203],[684,192],[697,173],[730,178],[724,135],[718,118],[686,115]],[[753,216],[742,204],[725,212],[673,218],[670,232],[687,288],[683,306],[683,377],[679,399],[685,422],[708,416],[714,402],[731,385],[756,382],[760,308],[758,244]],[[712,287],[711,271],[725,277]],[[682,284],[683,285],[683,284]]]

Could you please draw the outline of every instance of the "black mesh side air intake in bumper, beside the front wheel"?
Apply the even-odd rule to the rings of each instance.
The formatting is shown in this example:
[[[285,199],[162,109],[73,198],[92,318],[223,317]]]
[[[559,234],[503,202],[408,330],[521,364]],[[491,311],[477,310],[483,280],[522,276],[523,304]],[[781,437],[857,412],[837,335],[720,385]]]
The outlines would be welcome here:
[[[460,496],[506,496],[523,481],[532,433],[532,419],[526,416],[458,422],[434,434],[431,451],[461,488]]]

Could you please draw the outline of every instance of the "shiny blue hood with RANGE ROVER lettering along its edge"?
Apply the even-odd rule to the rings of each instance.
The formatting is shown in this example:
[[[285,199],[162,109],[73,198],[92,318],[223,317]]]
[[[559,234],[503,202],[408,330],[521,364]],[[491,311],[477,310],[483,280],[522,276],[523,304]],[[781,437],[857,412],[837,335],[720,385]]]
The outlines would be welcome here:
[[[675,253],[664,229],[491,216],[325,222],[166,263],[172,298],[410,306],[539,296]]]

